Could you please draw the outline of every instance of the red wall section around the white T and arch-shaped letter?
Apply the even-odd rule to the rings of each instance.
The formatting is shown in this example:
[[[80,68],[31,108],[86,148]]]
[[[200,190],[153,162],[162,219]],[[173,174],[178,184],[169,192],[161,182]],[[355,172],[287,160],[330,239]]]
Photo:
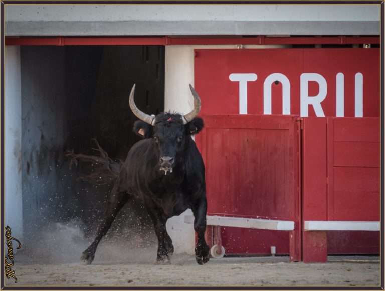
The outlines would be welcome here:
[[[300,96],[302,49],[195,50],[195,86],[202,100],[202,114],[239,114],[239,82],[232,73],[255,73],[248,82],[248,114],[263,114],[263,82],[280,72],[291,80],[291,95]],[[277,87],[278,86],[278,87]],[[272,114],[282,114],[281,85],[272,85]],[[213,98],[213,96],[217,96]],[[221,106],[218,106],[220,102]],[[292,114],[299,114],[299,99],[292,98]]]

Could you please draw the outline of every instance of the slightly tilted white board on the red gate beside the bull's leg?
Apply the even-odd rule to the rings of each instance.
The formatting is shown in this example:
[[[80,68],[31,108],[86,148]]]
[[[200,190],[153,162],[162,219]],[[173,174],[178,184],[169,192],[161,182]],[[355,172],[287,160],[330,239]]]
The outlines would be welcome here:
[[[256,218],[240,218],[240,217],[223,217],[223,216],[207,216],[207,225],[241,227],[253,229],[268,230],[294,230],[293,221],[269,220]],[[185,223],[194,223],[194,216],[189,215],[184,218]]]

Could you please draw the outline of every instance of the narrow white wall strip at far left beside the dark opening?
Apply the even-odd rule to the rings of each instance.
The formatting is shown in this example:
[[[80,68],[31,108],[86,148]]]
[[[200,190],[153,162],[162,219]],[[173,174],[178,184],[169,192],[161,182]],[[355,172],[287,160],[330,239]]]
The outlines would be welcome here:
[[[5,59],[5,225],[9,225],[11,227],[12,236],[20,240],[23,236],[20,47],[6,46]],[[16,247],[14,249],[16,249]]]

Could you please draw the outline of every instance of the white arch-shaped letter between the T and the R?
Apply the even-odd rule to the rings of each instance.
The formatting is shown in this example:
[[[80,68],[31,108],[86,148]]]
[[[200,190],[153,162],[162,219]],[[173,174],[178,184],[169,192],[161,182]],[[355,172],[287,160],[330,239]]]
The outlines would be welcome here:
[[[271,114],[271,85],[275,81],[282,83],[282,114],[290,114],[290,81],[281,73],[270,74],[263,83],[263,114]]]

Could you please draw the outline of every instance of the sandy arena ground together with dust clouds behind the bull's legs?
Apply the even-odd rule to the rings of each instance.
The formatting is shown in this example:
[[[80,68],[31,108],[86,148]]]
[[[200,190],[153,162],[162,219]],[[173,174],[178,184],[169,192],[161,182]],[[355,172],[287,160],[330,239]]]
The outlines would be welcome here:
[[[288,256],[225,257],[198,265],[193,252],[174,254],[155,265],[151,231],[117,227],[85,265],[80,256],[91,243],[78,223],[55,223],[36,241],[14,253],[12,286],[379,286],[378,256],[330,256],[328,263],[290,263]],[[120,232],[119,232],[119,231]],[[16,246],[14,247],[16,249]],[[354,287],[352,287],[354,288]]]

